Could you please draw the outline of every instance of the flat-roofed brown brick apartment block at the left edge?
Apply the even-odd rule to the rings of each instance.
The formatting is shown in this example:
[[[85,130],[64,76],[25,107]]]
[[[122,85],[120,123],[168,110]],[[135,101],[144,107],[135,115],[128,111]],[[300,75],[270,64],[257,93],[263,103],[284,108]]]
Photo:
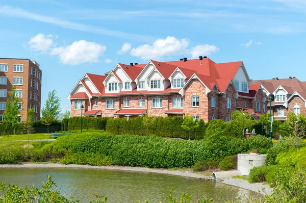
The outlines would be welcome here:
[[[15,85],[18,96],[22,99],[19,120],[27,119],[30,107],[35,110],[34,119],[40,119],[41,75],[36,61],[0,58],[0,121],[3,120],[9,92]]]

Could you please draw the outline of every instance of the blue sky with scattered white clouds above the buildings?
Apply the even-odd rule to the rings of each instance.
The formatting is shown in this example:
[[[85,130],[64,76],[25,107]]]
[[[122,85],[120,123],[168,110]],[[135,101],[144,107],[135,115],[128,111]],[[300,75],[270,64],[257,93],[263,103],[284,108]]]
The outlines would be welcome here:
[[[0,1],[0,58],[36,60],[49,91],[66,98],[85,72],[117,62],[208,56],[243,61],[251,79],[306,80],[306,1]]]

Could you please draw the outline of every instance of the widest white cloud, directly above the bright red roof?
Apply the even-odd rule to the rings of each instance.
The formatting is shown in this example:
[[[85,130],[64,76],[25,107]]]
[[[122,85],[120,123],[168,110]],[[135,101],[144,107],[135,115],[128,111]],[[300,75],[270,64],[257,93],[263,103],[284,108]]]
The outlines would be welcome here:
[[[180,55],[186,52],[189,39],[177,39],[167,37],[166,39],[157,39],[153,44],[143,44],[133,48],[130,52],[132,56],[140,57],[143,60],[160,60],[164,56]]]

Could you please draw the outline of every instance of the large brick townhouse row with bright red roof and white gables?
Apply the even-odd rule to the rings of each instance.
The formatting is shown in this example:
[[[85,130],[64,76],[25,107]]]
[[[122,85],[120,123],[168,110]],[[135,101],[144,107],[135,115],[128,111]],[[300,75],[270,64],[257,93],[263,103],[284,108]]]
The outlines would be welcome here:
[[[260,85],[251,85],[243,62],[215,63],[207,57],[179,61],[118,63],[105,75],[86,73],[68,99],[71,117],[184,116],[231,120],[235,110],[259,117],[267,110]]]

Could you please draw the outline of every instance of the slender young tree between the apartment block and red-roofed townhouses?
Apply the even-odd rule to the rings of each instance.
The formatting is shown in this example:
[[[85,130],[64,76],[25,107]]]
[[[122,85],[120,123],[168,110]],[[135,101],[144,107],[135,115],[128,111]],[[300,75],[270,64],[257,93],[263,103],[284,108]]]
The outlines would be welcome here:
[[[49,124],[52,123],[53,120],[59,117],[61,112],[60,110],[60,97],[56,95],[56,91],[53,90],[48,93],[48,98],[46,98],[46,102],[44,107],[41,110],[42,120],[44,124],[47,125],[47,132],[49,134]]]

